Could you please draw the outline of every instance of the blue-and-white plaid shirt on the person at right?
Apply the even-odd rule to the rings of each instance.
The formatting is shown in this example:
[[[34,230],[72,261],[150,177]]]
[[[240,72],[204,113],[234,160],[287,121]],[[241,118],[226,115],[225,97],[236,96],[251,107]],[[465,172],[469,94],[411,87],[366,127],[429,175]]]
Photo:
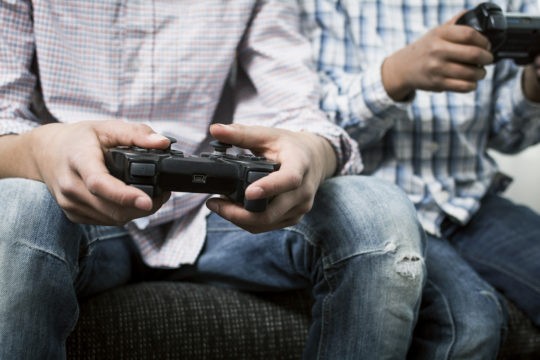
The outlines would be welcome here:
[[[366,172],[399,185],[432,234],[446,216],[465,224],[480,206],[497,172],[488,148],[514,153],[540,140],[540,105],[524,98],[512,61],[488,66],[467,94],[416,91],[397,103],[383,88],[388,55],[478,2],[300,1],[322,108],[358,141]],[[536,0],[499,5],[536,11]]]

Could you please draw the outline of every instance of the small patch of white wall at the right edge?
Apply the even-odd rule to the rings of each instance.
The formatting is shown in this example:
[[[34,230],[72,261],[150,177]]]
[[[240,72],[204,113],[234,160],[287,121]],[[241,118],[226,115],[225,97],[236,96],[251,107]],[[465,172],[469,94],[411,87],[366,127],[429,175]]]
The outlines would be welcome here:
[[[491,154],[501,170],[514,178],[505,196],[540,213],[540,145],[517,155]]]

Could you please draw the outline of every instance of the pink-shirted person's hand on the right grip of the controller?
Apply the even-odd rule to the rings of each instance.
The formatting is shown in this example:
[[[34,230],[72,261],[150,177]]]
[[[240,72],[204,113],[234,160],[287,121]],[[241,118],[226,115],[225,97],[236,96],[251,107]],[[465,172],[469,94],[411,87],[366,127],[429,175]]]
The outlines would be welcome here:
[[[266,211],[253,213],[227,199],[212,198],[210,210],[252,233],[294,225],[311,210],[319,185],[335,172],[336,155],[326,139],[309,133],[262,126],[216,124],[210,128],[217,140],[281,164],[246,189],[248,200],[272,198]]]

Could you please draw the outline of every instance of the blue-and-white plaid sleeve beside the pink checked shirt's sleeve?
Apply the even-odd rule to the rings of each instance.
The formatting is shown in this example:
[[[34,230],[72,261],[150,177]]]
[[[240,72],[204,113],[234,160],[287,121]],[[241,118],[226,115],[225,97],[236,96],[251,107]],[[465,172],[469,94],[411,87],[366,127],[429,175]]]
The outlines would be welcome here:
[[[302,2],[302,32],[312,45],[321,82],[321,108],[350,133],[360,148],[378,142],[406,116],[414,96],[396,102],[384,89],[381,67],[384,51],[367,61],[350,33],[354,16],[333,2]]]

